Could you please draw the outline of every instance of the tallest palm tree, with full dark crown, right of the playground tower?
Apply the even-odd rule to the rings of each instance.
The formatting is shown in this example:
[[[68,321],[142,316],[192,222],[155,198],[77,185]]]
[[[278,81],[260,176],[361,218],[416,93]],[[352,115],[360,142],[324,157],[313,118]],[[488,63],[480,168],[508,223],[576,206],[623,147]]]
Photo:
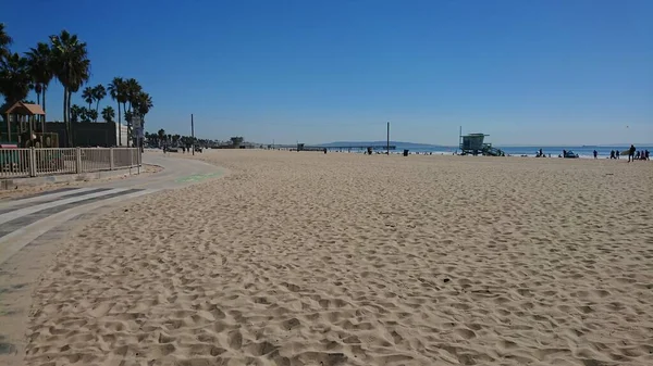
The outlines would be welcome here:
[[[79,90],[82,84],[90,76],[90,60],[86,42],[81,41],[77,35],[61,30],[59,35],[50,36],[52,43],[52,71],[63,86],[63,122],[66,124],[69,146],[73,144],[73,135],[70,123],[71,97]]]

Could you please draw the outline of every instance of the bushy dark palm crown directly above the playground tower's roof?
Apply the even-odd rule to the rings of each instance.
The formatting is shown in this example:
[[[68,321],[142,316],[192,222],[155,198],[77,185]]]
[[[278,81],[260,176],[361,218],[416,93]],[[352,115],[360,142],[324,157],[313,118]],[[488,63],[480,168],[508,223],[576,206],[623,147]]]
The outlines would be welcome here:
[[[7,105],[27,98],[30,87],[27,59],[12,53],[0,60],[0,94],[4,96]]]

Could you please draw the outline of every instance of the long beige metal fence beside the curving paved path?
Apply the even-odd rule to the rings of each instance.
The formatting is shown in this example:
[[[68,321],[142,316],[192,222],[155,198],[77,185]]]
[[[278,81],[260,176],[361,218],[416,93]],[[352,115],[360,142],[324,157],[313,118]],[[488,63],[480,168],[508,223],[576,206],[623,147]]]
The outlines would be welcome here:
[[[140,166],[137,148],[0,149],[0,179]]]

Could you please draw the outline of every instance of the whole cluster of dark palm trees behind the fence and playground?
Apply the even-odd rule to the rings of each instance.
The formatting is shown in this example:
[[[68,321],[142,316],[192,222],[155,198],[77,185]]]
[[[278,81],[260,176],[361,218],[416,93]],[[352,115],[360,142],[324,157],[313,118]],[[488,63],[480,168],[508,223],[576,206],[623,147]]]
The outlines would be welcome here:
[[[47,112],[48,87],[52,80],[59,81],[63,86],[63,122],[69,146],[73,144],[72,123],[97,122],[100,115],[106,122],[114,122],[115,111],[112,106],[107,105],[101,112],[99,110],[100,101],[107,96],[116,102],[119,124],[123,117],[127,123],[127,140],[132,136],[132,118],[138,116],[144,121],[153,108],[152,98],[144,91],[138,80],[123,77],[114,77],[107,87],[101,84],[86,86],[82,90],[82,99],[88,108],[72,104],[73,94],[90,79],[87,45],[77,35],[61,30],[50,36],[48,42],[38,42],[23,54],[11,51],[12,43],[13,39],[5,31],[4,24],[0,23],[0,94],[4,98],[0,110],[26,101],[33,90],[36,103]],[[122,144],[122,134],[119,134],[119,144]]]

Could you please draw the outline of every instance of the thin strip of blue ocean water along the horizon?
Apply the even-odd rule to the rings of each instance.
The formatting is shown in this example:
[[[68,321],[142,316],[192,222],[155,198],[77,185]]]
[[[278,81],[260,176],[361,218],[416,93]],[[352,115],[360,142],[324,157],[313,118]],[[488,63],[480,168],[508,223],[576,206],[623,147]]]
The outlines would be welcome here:
[[[609,157],[609,152],[611,150],[618,150],[618,151],[624,151],[624,150],[628,150],[628,148],[630,148],[629,146],[624,146],[624,147],[541,147],[541,148],[535,148],[535,147],[501,147],[501,146],[493,146],[494,148],[501,149],[503,150],[506,155],[513,155],[513,156],[521,156],[521,155],[528,155],[528,156],[535,156],[535,154],[538,153],[538,151],[540,149],[542,149],[542,152],[544,152],[544,154],[549,155],[551,154],[552,157],[557,157],[558,155],[560,155],[563,153],[563,150],[571,150],[575,153],[577,153],[580,157],[586,157],[586,159],[593,159],[593,152],[594,150],[596,150],[596,152],[599,153],[599,159],[607,159]],[[650,152],[653,152],[653,147],[651,146],[634,146],[637,148],[637,150],[649,150]],[[414,146],[402,146],[402,144],[397,144],[396,146],[396,150],[395,153],[402,153],[404,151],[404,149],[408,149],[411,153],[412,152],[419,152],[419,153],[433,153],[433,154],[453,154],[454,152],[458,151],[457,147],[434,147],[432,149],[429,148],[415,148]]]

